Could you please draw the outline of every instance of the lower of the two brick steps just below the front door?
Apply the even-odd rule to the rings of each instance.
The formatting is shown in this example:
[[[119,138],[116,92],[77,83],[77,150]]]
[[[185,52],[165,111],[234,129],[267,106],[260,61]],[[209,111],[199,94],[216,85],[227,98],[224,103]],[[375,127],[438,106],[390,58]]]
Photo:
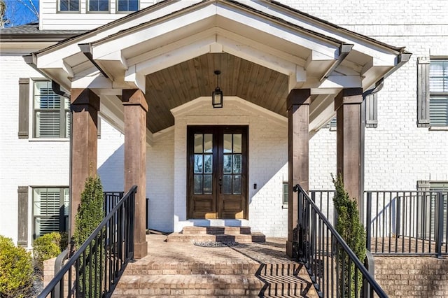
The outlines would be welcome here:
[[[266,237],[260,232],[252,232],[251,234],[181,234],[172,233],[167,236],[167,242],[238,242],[252,243],[265,242]]]

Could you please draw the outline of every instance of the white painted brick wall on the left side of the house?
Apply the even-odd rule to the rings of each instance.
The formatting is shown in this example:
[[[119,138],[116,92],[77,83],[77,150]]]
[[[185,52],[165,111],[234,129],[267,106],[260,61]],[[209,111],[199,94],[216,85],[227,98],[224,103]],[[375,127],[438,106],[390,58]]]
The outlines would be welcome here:
[[[0,55],[0,234],[13,241],[17,241],[18,234],[18,186],[69,186],[68,139],[18,139],[19,78],[42,76],[25,64],[21,52],[3,50]],[[101,129],[98,171],[104,190],[123,190],[123,135],[105,121],[102,121]],[[32,125],[29,134],[32,136]],[[32,234],[31,201],[30,188],[29,243]]]

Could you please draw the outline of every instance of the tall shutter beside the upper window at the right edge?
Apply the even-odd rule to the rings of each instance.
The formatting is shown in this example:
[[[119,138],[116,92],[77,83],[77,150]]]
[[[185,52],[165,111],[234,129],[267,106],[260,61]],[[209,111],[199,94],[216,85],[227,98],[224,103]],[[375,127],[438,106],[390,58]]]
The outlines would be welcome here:
[[[429,127],[429,62],[417,58],[417,127]]]

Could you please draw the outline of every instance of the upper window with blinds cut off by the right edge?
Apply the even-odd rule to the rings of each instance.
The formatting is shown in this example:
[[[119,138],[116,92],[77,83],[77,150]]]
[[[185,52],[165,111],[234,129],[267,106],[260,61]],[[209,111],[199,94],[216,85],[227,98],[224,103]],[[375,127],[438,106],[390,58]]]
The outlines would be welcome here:
[[[448,127],[448,60],[430,60],[429,66],[430,126]]]

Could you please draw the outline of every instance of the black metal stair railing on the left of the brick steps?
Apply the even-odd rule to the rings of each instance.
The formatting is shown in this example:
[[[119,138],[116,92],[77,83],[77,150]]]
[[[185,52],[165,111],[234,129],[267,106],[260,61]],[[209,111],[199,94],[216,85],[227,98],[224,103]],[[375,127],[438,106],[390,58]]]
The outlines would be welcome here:
[[[110,297],[134,257],[134,185],[83,245],[64,264],[38,298]]]

